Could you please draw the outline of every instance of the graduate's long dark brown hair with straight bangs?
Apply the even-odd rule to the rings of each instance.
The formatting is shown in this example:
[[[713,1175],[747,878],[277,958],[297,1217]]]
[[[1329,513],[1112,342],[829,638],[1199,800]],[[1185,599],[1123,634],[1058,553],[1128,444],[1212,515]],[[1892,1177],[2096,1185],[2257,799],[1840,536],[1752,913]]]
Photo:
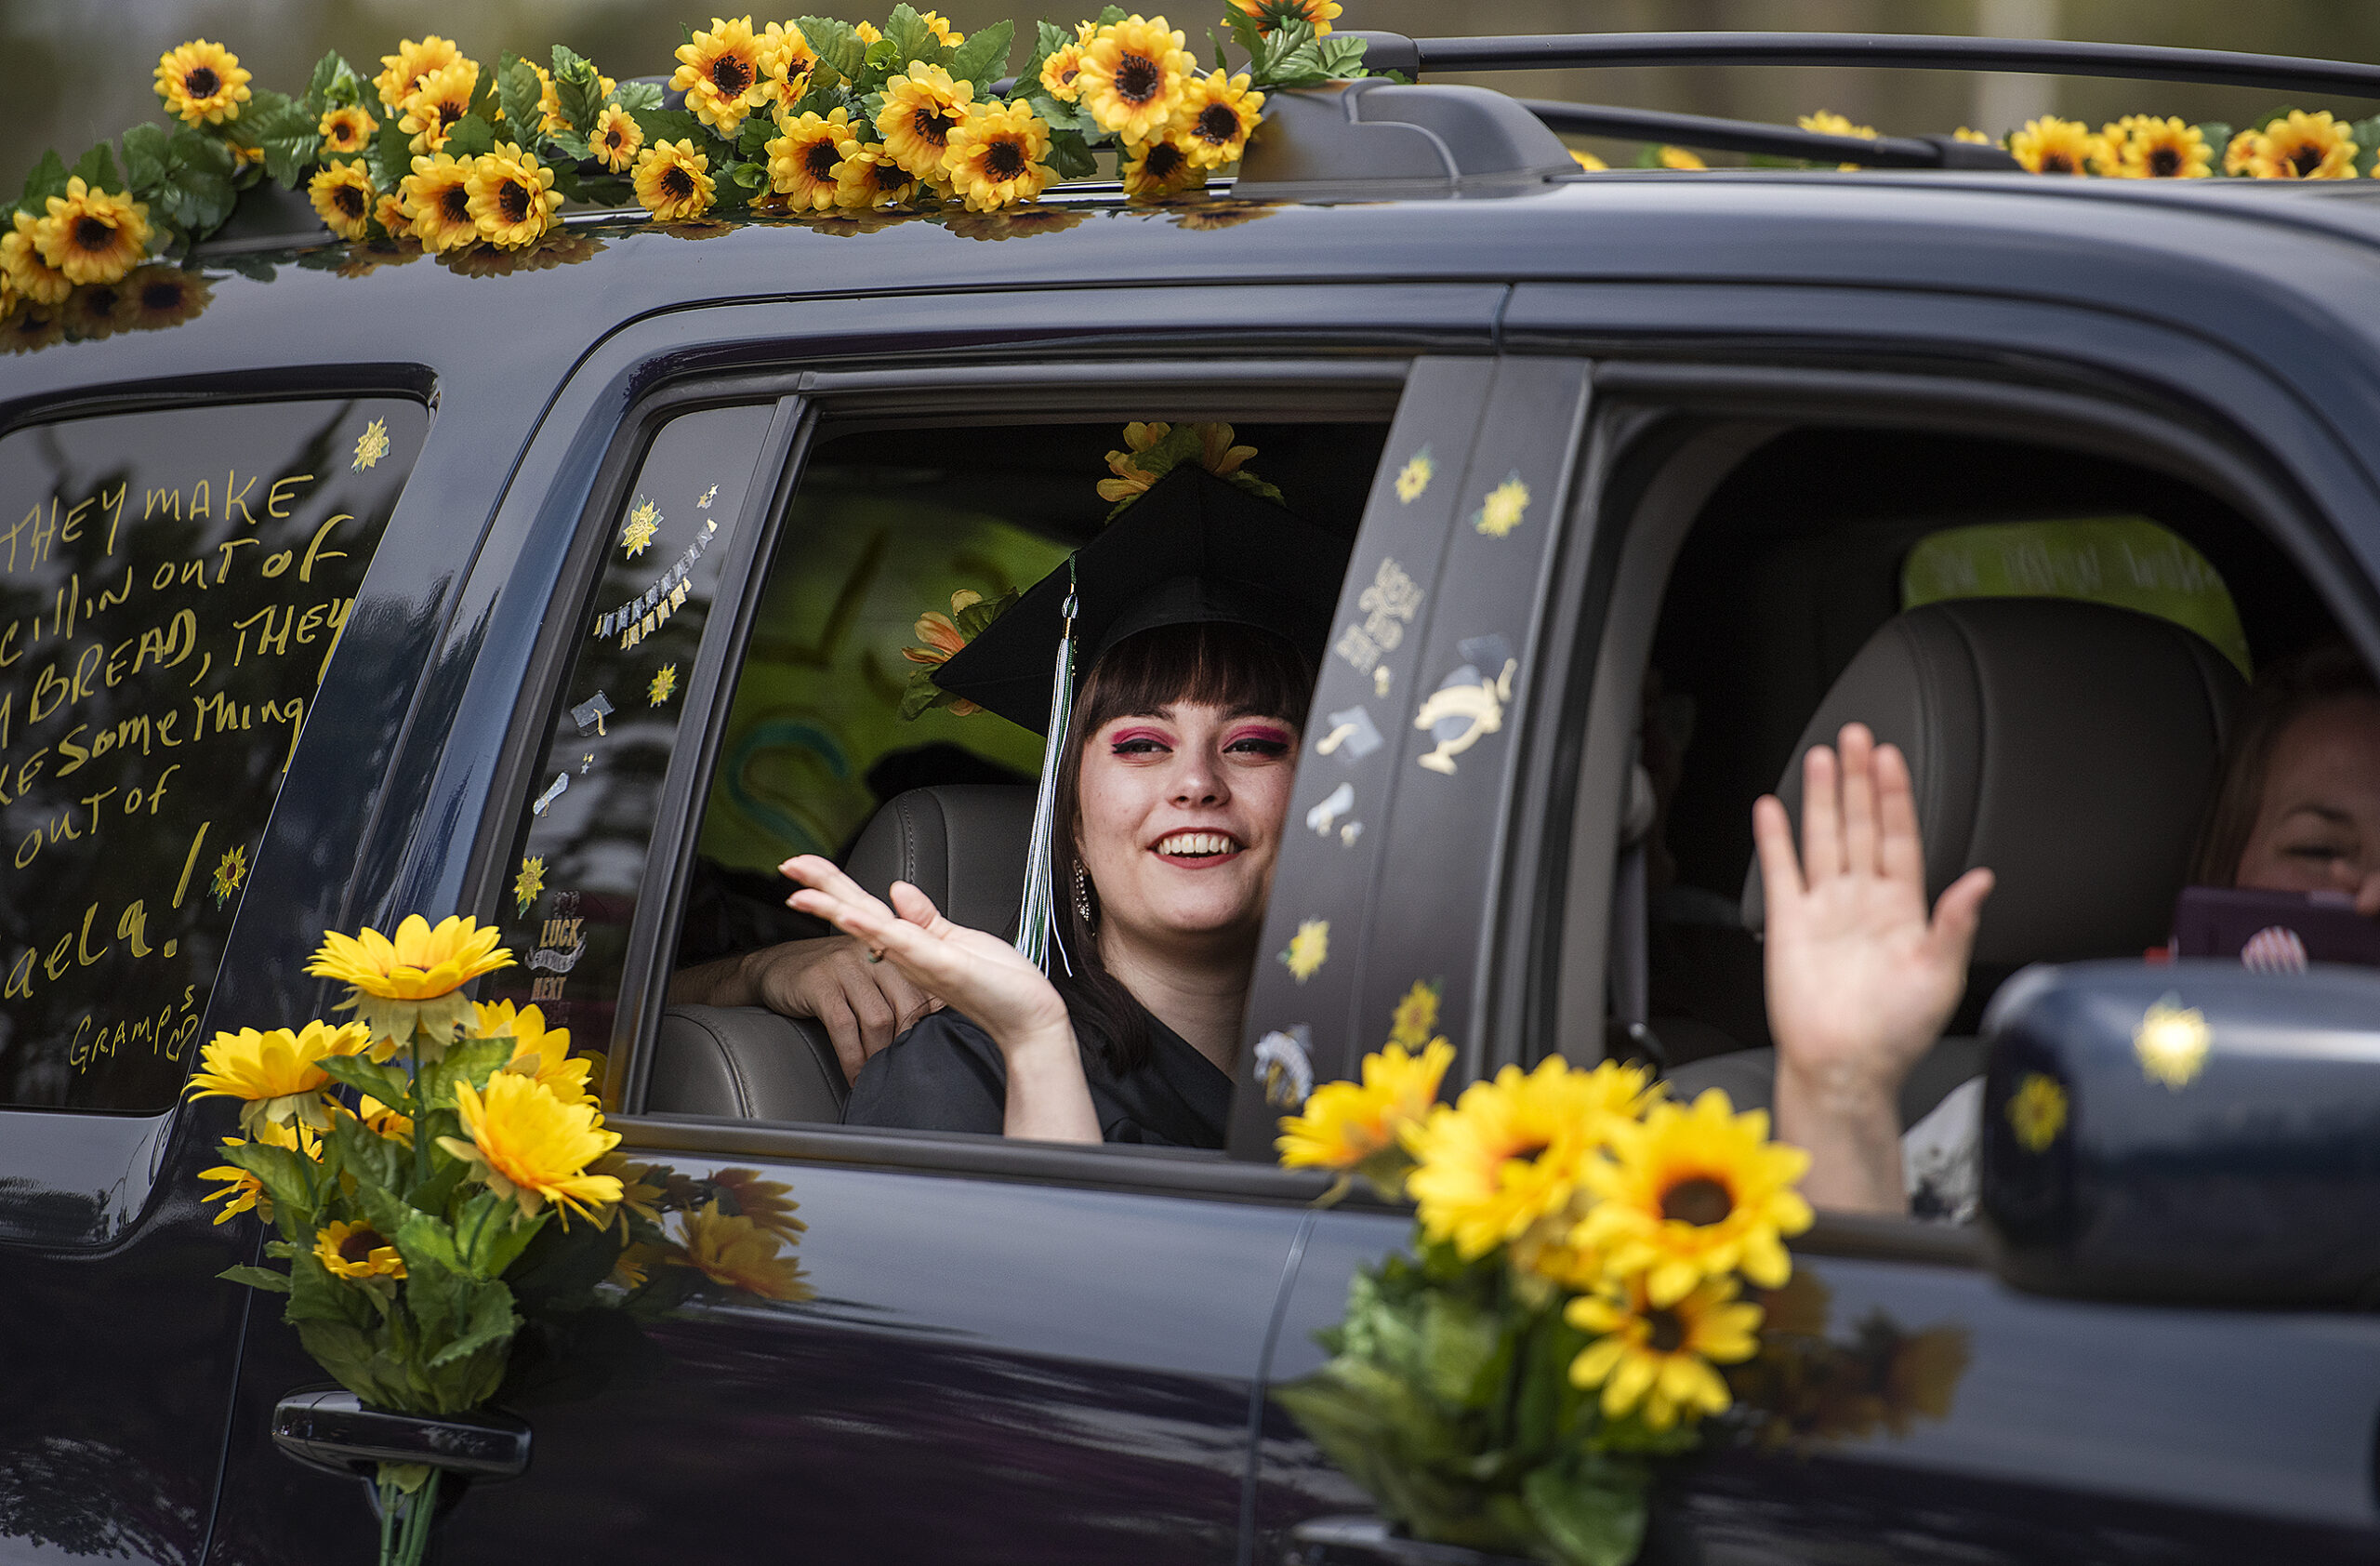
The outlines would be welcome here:
[[[1288,640],[1257,626],[1200,621],[1157,626],[1128,635],[1092,664],[1083,695],[1073,704],[1073,743],[1057,771],[1054,842],[1050,866],[1057,878],[1057,933],[1066,942],[1073,976],[1059,966],[1059,995],[1076,1023],[1088,1026],[1102,1045],[1111,1071],[1133,1071],[1150,1061],[1147,1011],[1123,988],[1123,981],[1100,961],[1100,892],[1092,888],[1092,919],[1076,904],[1076,864],[1083,831],[1083,752],[1102,728],[1135,712],[1159,712],[1176,702],[1223,707],[1230,714],[1285,719],[1304,726],[1314,700],[1314,659]]]

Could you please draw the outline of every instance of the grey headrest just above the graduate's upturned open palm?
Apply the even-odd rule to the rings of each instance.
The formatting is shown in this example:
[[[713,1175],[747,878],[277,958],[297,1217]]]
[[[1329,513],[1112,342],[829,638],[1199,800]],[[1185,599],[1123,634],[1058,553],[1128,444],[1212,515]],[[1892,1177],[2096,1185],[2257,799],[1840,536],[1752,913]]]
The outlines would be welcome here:
[[[1031,783],[938,783],[885,800],[843,871],[885,900],[907,881],[957,923],[1014,935],[1031,838]]]

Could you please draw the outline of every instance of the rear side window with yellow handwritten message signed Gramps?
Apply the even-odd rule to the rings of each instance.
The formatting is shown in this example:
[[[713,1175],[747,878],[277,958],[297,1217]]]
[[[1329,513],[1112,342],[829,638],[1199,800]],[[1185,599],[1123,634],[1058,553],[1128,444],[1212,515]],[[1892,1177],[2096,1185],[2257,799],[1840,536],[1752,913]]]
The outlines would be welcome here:
[[[0,1102],[174,1102],[426,428],[340,397],[0,438]]]

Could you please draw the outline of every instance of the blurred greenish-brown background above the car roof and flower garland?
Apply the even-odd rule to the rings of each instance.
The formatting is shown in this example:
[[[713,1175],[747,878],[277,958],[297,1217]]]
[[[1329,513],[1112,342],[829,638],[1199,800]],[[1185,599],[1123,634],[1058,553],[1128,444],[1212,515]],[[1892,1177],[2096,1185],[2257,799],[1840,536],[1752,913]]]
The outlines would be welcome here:
[[[1345,7],[1342,29],[1414,36],[1664,29],[1992,33],[2380,59],[2380,5],[2370,0],[1345,0]],[[814,0],[788,14],[812,10],[845,14]],[[881,17],[881,10],[883,2],[869,0],[847,19]],[[1095,10],[1088,5],[1083,14]],[[1202,57],[1214,19],[1209,10],[1219,14],[1221,0],[1169,10]],[[74,162],[93,140],[114,138],[140,119],[159,119],[150,71],[157,55],[188,38],[212,38],[238,52],[257,86],[298,93],[324,50],[336,48],[371,74],[397,38],[421,33],[455,38],[483,64],[502,50],[543,62],[552,43],[569,43],[612,76],[666,74],[676,64],[671,50],[681,43],[681,24],[704,26],[709,14],[707,5],[669,0],[0,0],[0,102],[12,105],[17,124],[0,159],[0,188],[17,190],[43,148],[55,145]],[[947,0],[942,14],[976,29],[1042,10]],[[1073,19],[1076,12],[1064,14],[1064,21]],[[1961,71],[1509,71],[1490,81],[1540,98],[1773,121],[1828,107],[1887,133],[1968,124],[1999,136],[2047,112],[2094,126],[2132,112],[2247,124],[2278,107],[2268,93],[2228,88]],[[2373,112],[2363,102],[2294,107],[2335,107],[2351,119]]]

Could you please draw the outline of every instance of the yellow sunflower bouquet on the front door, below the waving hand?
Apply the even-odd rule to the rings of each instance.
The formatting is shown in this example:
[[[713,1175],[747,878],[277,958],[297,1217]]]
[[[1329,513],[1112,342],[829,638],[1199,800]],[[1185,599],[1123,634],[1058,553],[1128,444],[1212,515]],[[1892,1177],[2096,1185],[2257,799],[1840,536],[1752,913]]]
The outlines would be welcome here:
[[[1699,1447],[1733,1404],[1721,1366],[1764,1349],[1742,1285],[1792,1276],[1809,1154],[1611,1061],[1504,1066],[1440,1104],[1435,1014],[1414,985],[1361,1080],[1280,1123],[1283,1164],[1409,1197],[1416,1254],[1357,1273],[1330,1361],[1276,1397],[1421,1540],[1626,1566],[1654,1459]]]

